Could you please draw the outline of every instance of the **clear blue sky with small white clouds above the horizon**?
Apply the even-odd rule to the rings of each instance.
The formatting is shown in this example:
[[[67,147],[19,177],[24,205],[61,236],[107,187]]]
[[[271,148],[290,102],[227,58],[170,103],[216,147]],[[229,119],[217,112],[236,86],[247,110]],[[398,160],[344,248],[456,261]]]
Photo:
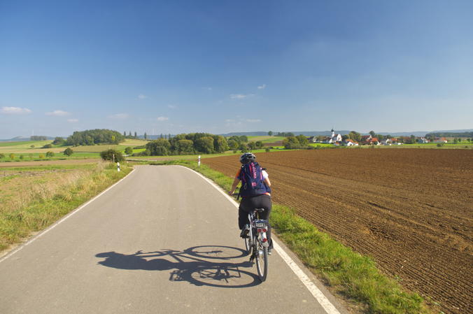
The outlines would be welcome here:
[[[472,1],[0,0],[0,138],[473,128]]]

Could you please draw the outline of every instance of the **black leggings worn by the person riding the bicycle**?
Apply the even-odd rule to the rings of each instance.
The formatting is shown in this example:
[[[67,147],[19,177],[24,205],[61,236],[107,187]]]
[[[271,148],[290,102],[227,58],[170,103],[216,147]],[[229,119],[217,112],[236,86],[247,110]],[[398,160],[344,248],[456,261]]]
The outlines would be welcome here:
[[[271,214],[271,197],[269,195],[258,195],[257,197],[243,197],[241,198],[240,206],[238,208],[238,227],[243,229],[245,224],[249,224],[248,213],[251,213],[255,208],[264,208],[260,213],[260,219],[269,220]],[[272,248],[273,241],[271,240],[271,226],[268,222],[268,231],[266,233],[269,247]]]

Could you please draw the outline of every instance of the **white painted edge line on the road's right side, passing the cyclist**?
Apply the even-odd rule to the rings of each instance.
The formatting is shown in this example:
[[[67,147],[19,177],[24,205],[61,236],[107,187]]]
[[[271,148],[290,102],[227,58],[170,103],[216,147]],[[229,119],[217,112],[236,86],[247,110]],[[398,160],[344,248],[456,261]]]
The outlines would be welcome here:
[[[216,183],[214,183],[212,180],[210,180],[209,178],[206,178],[204,175],[202,175],[202,173],[198,173],[197,171],[192,170],[192,169],[190,169],[188,167],[185,167],[185,166],[182,166],[182,167],[185,168],[185,169],[189,169],[190,171],[192,171],[194,173],[197,173],[197,175],[201,176],[204,180],[206,180],[213,187],[215,187],[216,190],[218,190],[218,192],[225,195],[225,197],[227,197],[227,199],[229,199],[232,202],[232,204],[234,204],[234,206],[236,206],[236,208],[239,207],[239,204],[234,199],[232,199],[232,197],[230,197],[230,195],[225,193],[222,190],[222,188],[219,187],[218,185],[216,185]],[[313,297],[316,298],[316,300],[318,301],[320,306],[323,307],[325,312],[327,312],[327,314],[340,314],[340,312],[337,310],[337,308],[335,308],[335,306],[332,304],[332,302],[330,302],[330,300],[327,299],[327,297],[325,297],[325,294],[323,294],[323,292],[321,292],[318,289],[318,287],[312,282],[312,280],[309,278],[309,276],[307,276],[304,273],[304,271],[302,271],[302,269],[300,269],[300,267],[297,266],[297,264],[294,262],[294,260],[292,260],[292,258],[290,258],[288,253],[286,253],[283,250],[283,248],[281,248],[281,246],[279,246],[278,243],[276,243],[276,241],[274,241],[274,240],[273,240],[273,245],[274,245],[274,250],[276,250],[276,252],[278,252],[278,254],[283,258],[284,262],[286,264],[288,264],[289,268],[295,273],[295,275],[299,278],[299,280],[301,280],[302,283],[304,283],[307,290],[309,290],[309,292],[311,292]]]

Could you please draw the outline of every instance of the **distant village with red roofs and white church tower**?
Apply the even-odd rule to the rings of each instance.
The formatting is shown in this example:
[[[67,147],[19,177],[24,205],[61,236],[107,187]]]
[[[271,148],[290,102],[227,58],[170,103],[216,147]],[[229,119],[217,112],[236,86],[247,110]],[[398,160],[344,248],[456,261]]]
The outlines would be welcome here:
[[[416,136],[382,136],[378,134],[361,135],[351,132],[347,135],[335,134],[332,129],[332,136],[311,136],[308,138],[311,143],[333,144],[335,146],[358,146],[358,145],[402,145],[414,143],[447,143],[444,137],[425,138]]]

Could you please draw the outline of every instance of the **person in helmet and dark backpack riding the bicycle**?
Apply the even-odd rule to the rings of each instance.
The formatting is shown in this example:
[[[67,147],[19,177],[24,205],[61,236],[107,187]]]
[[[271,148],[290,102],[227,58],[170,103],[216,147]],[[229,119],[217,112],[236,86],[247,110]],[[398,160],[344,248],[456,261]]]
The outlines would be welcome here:
[[[229,194],[234,194],[236,186],[241,181],[238,225],[241,230],[240,236],[244,238],[250,231],[248,213],[251,213],[255,208],[264,208],[264,211],[260,213],[260,219],[269,220],[269,214],[271,213],[271,182],[268,173],[256,162],[256,156],[253,153],[246,152],[241,155],[240,162],[241,168],[236,172]],[[271,240],[271,226],[269,224],[266,235],[269,243],[268,252],[270,253],[273,248],[273,241]]]

